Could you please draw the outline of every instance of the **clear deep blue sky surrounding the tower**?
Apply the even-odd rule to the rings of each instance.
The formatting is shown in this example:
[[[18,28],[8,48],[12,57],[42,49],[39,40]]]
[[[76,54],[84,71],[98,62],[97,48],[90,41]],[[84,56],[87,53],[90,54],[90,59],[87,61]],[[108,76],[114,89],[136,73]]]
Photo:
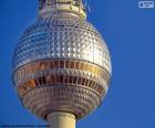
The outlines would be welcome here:
[[[108,45],[113,75],[102,105],[76,128],[155,128],[155,8],[138,0],[86,0],[87,20]],[[155,2],[155,1],[154,1]],[[14,45],[35,21],[38,0],[0,0],[0,126],[44,125],[11,83]]]

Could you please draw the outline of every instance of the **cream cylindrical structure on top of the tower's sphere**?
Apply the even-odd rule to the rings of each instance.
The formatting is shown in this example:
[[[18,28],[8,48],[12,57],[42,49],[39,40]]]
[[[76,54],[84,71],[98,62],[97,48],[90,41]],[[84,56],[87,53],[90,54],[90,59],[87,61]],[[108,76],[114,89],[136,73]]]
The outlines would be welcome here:
[[[86,18],[82,0],[39,0],[39,18],[46,18],[56,12],[72,13],[81,19]]]

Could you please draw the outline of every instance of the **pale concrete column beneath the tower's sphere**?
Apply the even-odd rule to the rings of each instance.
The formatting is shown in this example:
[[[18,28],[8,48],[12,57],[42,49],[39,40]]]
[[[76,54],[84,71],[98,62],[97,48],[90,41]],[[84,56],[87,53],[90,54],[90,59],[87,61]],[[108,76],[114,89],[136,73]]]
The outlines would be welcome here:
[[[48,115],[49,128],[75,128],[75,116],[65,111]]]

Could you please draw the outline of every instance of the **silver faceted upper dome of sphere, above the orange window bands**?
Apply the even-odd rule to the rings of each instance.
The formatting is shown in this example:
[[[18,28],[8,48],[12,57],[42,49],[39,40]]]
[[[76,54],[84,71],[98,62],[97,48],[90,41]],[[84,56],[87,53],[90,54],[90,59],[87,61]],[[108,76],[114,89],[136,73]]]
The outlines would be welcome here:
[[[101,34],[73,15],[40,19],[27,29],[16,47],[13,71],[45,58],[87,61],[111,74],[110,53]]]

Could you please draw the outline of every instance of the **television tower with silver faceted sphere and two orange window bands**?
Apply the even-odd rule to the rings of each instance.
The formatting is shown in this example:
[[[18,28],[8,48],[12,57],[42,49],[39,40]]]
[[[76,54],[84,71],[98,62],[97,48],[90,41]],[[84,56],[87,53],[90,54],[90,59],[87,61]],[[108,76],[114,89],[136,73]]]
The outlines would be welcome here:
[[[39,0],[12,67],[21,103],[51,128],[75,128],[100,106],[111,78],[107,46],[86,21],[82,0]]]

